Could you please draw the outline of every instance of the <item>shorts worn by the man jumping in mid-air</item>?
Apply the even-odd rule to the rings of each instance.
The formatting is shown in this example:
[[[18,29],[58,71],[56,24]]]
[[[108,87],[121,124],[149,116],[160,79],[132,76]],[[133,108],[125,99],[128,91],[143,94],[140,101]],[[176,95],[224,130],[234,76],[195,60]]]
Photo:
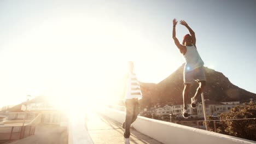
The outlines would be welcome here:
[[[183,74],[184,84],[192,83],[194,80],[196,82],[206,81],[205,69],[203,67],[199,67],[194,70],[184,72]]]

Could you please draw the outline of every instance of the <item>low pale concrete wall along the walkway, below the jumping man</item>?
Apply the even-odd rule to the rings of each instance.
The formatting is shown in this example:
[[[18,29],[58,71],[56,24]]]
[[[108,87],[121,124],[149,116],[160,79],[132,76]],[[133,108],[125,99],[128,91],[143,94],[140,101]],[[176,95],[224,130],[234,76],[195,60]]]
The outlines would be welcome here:
[[[102,115],[114,119],[119,123],[123,123],[125,120],[125,113],[106,108],[101,111]],[[236,144],[236,143],[256,143],[255,141],[249,141],[240,139],[233,136],[223,135],[214,133],[212,131],[206,131],[196,128],[187,127],[170,122],[159,121],[156,119],[150,119],[146,117],[138,116],[137,120],[132,124],[133,127],[155,140],[162,143],[225,143],[225,144]]]

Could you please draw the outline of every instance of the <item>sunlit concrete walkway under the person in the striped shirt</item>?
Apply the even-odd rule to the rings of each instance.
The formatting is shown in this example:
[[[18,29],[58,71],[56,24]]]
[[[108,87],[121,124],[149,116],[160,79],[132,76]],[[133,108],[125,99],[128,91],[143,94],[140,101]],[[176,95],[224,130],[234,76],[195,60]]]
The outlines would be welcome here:
[[[90,113],[86,121],[88,132],[91,136],[92,141],[95,144],[116,144],[124,143],[124,129],[121,128],[121,123],[115,122],[107,117],[97,115],[96,113]],[[131,144],[161,144],[160,142],[131,129],[130,136]]]

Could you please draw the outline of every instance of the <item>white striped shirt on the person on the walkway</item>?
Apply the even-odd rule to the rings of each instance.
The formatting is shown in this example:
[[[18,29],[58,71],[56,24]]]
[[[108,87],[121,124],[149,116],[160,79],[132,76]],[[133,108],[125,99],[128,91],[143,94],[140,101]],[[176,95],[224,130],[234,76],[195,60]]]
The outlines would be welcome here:
[[[134,73],[129,73],[126,80],[125,99],[142,99],[141,87]]]

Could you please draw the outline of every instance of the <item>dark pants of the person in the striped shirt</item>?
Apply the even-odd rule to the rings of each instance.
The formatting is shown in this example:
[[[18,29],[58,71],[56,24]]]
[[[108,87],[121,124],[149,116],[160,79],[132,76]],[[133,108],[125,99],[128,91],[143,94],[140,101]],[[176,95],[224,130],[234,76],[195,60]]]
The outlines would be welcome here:
[[[126,116],[125,116],[124,137],[129,138],[131,135],[130,133],[131,124],[137,119],[137,116],[139,113],[138,99],[126,99],[125,109],[126,109]]]

